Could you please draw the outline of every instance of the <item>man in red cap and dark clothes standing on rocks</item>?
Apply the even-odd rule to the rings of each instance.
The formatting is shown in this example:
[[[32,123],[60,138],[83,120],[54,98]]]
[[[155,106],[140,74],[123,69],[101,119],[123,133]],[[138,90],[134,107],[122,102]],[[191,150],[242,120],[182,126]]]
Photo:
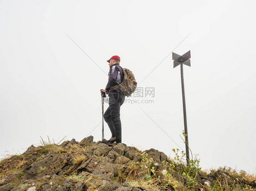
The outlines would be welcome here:
[[[101,92],[108,94],[109,106],[104,113],[104,120],[108,123],[108,127],[112,133],[112,137],[108,140],[111,143],[122,142],[122,127],[120,120],[120,106],[123,104],[125,96],[118,88],[113,88],[122,83],[123,81],[123,69],[119,65],[120,57],[112,56],[107,60],[109,63],[108,84],[105,89],[101,89]],[[118,83],[117,83],[118,82]]]

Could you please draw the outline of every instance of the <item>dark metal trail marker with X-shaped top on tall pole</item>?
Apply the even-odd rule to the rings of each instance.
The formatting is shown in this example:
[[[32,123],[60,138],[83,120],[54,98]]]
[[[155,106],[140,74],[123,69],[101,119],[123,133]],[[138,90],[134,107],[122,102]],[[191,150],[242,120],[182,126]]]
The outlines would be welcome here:
[[[188,138],[188,127],[187,127],[187,114],[186,114],[186,102],[185,102],[185,90],[184,90],[184,77],[183,77],[183,64],[190,66],[190,50],[180,56],[173,52],[174,68],[180,64],[181,74],[181,89],[182,89],[182,101],[183,101],[183,115],[184,115],[184,130],[185,130],[185,143],[186,143],[186,158],[187,165],[189,164],[189,138]]]

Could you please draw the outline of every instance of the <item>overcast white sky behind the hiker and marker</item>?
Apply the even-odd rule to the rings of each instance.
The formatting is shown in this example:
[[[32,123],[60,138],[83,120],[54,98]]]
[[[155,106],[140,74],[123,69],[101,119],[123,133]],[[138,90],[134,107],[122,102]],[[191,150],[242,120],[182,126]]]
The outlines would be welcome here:
[[[154,98],[130,98],[154,103],[121,107],[123,142],[174,157],[169,137],[184,149],[184,122],[170,53],[184,40],[174,52],[191,50],[189,146],[204,169],[255,171],[255,10],[253,0],[0,0],[0,157],[37,146],[40,136],[81,141],[99,123],[90,135],[101,140],[99,89],[113,55],[143,91],[155,88]]]

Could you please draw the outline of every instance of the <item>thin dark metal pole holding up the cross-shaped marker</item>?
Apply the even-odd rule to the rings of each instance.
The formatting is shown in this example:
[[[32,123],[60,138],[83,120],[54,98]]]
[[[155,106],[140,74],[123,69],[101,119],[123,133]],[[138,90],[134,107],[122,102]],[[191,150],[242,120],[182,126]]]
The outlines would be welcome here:
[[[188,138],[187,114],[186,114],[186,102],[185,102],[184,77],[183,77],[183,64],[182,63],[180,64],[180,75],[181,75],[181,89],[182,89],[182,101],[183,101],[186,158],[187,158],[187,165],[188,165],[189,164],[189,138]]]

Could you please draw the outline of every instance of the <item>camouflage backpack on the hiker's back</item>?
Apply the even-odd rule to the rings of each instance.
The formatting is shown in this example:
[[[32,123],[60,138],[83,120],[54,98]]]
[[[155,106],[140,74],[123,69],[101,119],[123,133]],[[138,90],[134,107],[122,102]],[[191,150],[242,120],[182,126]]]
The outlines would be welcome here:
[[[123,68],[123,82],[118,83],[118,85],[113,88],[120,89],[127,97],[131,96],[137,88],[137,82],[134,78],[133,72],[129,69]]]

